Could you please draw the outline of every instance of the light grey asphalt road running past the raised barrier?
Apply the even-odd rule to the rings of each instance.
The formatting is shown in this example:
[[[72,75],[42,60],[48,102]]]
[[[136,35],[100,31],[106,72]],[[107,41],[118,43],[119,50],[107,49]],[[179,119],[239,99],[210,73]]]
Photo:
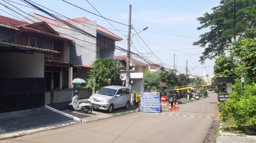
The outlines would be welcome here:
[[[183,102],[179,110],[135,112],[90,123],[73,124],[1,142],[203,142],[214,116],[217,94]]]

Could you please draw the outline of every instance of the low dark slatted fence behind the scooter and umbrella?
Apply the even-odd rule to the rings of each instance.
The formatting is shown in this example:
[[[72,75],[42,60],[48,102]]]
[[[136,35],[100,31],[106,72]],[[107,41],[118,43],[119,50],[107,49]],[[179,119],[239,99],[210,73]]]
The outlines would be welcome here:
[[[72,101],[75,89],[60,89],[46,91],[46,105]],[[92,91],[78,89],[79,99],[86,99],[92,96]]]

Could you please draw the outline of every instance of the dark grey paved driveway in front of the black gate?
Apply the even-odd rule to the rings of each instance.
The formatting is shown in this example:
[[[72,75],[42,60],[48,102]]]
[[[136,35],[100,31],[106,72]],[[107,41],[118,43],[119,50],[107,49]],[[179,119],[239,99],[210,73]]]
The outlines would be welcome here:
[[[44,107],[0,113],[0,140],[79,123]]]

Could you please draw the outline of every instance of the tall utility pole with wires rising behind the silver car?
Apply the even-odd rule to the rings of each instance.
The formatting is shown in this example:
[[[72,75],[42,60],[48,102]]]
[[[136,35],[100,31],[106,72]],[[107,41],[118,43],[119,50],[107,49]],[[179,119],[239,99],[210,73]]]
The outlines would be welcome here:
[[[127,38],[127,61],[126,61],[126,87],[129,88],[130,84],[130,48],[131,48],[131,5],[129,6],[129,25],[128,25],[128,38]]]

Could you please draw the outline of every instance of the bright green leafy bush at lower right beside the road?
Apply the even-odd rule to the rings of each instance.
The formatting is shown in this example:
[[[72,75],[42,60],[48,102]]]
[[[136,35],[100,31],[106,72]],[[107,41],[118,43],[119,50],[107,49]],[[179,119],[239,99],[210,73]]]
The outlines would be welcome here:
[[[218,103],[221,119],[224,122],[233,120],[234,127],[246,123],[256,125],[256,84],[243,87],[237,79],[232,88],[229,99],[225,103]]]

